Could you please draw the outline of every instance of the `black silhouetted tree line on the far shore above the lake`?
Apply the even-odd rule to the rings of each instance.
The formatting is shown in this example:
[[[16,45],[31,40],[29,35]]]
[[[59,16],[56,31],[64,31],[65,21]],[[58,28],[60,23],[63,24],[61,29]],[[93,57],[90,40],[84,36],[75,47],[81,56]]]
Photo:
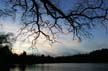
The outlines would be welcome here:
[[[38,63],[100,63],[108,62],[108,49],[101,49],[88,54],[78,54],[73,56],[44,56],[13,54],[8,47],[0,49],[0,63],[3,64],[38,64]]]

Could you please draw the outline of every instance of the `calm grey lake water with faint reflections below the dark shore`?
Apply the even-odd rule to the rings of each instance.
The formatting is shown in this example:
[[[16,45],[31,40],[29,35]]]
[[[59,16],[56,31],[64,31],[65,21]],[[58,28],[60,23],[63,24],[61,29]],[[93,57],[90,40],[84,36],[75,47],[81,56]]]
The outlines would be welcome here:
[[[15,65],[0,67],[0,71],[108,71],[108,64],[102,63],[61,63],[61,64],[36,64]]]

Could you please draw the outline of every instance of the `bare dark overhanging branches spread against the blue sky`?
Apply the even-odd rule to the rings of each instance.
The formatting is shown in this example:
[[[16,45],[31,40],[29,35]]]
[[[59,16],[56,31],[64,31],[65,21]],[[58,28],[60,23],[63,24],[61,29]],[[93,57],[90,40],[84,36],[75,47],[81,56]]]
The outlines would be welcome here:
[[[7,12],[19,13],[24,25],[21,33],[31,32],[28,37],[34,36],[33,44],[40,35],[44,35],[53,43],[56,41],[55,35],[58,32],[73,33],[74,38],[81,39],[81,36],[89,37],[91,35],[89,29],[95,26],[106,27],[108,22],[107,0],[77,0],[68,11],[61,8],[62,1],[65,0],[59,0],[59,5],[57,0],[8,0],[11,8],[1,12],[4,14]],[[27,32],[24,32],[24,29],[27,29]],[[46,30],[50,34],[46,33]]]

